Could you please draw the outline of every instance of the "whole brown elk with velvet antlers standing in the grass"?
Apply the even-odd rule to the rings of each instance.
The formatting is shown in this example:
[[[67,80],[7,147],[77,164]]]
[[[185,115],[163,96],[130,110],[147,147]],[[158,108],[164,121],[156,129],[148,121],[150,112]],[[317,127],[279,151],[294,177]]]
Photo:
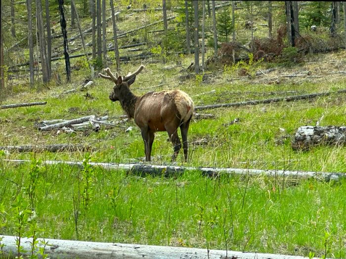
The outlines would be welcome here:
[[[184,160],[187,161],[187,132],[193,114],[194,103],[192,99],[183,91],[171,90],[161,92],[149,92],[143,96],[136,96],[130,90],[136,76],[143,70],[141,65],[134,73],[127,76],[118,76],[111,72],[109,68],[103,69],[107,74],[98,75],[115,83],[109,99],[113,102],[119,101],[123,110],[129,118],[134,118],[134,122],[140,128],[144,142],[145,161],[150,161],[151,149],[155,138],[155,132],[167,131],[173,143],[174,153],[172,161],[181,148],[178,137],[180,127]]]

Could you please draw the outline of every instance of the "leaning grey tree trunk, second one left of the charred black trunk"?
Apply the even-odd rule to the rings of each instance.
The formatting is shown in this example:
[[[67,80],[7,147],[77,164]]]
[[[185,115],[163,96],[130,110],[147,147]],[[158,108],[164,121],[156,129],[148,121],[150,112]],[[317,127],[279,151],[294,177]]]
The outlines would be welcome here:
[[[42,3],[41,0],[36,0],[36,22],[37,22],[37,34],[40,42],[40,57],[41,57],[41,67],[42,67],[42,76],[43,84],[48,83],[48,60],[47,52],[45,46],[45,37],[44,37],[44,26],[43,26],[43,17],[42,17]]]

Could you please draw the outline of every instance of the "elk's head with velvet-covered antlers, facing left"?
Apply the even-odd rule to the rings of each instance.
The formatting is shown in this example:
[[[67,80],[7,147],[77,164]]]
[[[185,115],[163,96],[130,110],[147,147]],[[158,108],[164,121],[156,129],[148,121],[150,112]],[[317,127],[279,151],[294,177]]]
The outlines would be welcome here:
[[[98,73],[98,75],[102,78],[108,79],[115,83],[113,87],[113,91],[109,93],[109,99],[112,102],[116,102],[120,100],[121,92],[128,92],[130,85],[133,84],[134,80],[136,79],[136,75],[138,75],[142,70],[144,66],[141,65],[134,73],[129,73],[127,76],[119,76],[118,72],[115,73],[115,75],[111,72],[109,67],[103,69],[103,71],[108,75],[103,75],[101,73]]]

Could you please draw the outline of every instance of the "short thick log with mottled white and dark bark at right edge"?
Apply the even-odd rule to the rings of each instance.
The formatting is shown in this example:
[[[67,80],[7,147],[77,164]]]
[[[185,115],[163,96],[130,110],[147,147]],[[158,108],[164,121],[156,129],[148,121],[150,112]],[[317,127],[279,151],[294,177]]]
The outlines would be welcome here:
[[[299,127],[291,143],[294,150],[308,150],[316,145],[345,145],[346,127]]]

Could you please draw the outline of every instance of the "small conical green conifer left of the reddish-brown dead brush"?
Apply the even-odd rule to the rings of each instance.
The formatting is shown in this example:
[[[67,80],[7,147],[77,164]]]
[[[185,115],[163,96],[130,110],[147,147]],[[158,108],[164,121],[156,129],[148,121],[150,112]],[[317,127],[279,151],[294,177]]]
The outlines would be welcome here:
[[[220,42],[228,42],[228,37],[234,30],[230,14],[229,8],[222,8],[216,15],[217,39]]]

